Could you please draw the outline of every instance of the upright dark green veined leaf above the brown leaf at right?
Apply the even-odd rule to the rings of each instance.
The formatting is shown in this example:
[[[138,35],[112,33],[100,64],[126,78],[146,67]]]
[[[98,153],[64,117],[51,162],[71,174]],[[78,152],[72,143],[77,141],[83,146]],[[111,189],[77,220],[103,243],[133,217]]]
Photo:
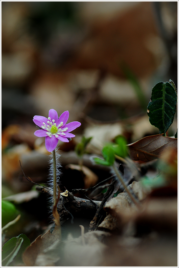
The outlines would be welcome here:
[[[159,82],[152,89],[147,114],[151,125],[159,129],[160,134],[166,133],[176,112],[177,94],[169,82]]]

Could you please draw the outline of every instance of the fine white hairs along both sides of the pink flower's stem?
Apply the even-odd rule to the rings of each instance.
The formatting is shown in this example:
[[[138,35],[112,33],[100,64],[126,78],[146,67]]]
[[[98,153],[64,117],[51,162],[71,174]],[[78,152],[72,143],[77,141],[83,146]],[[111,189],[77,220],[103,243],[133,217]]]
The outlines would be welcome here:
[[[61,163],[60,163],[60,154],[58,147],[55,148],[55,157],[56,157],[56,176],[57,176],[57,186],[60,185],[60,175],[62,174],[60,171]],[[49,197],[49,208],[50,212],[53,211],[53,179],[54,179],[54,168],[53,168],[53,152],[49,155],[49,176],[48,176],[48,184],[52,192]],[[57,196],[58,196],[58,188],[57,188]]]

